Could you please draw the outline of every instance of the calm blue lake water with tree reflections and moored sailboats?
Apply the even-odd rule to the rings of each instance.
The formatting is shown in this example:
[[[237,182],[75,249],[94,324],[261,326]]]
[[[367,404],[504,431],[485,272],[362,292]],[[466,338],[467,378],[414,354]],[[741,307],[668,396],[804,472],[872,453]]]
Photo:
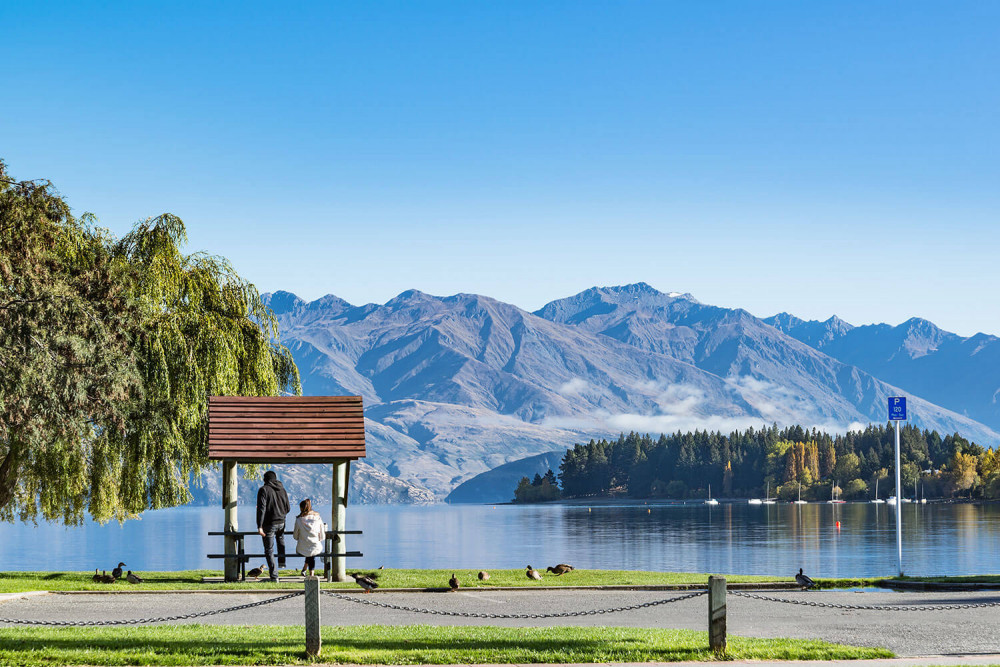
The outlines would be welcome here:
[[[329,508],[318,508],[329,516]],[[840,529],[836,522],[840,521]],[[243,530],[253,509],[241,508]],[[291,525],[291,519],[289,519]],[[124,526],[0,524],[0,570],[221,569],[218,507],[147,512]],[[348,508],[348,568],[581,568],[785,574],[891,575],[895,510],[887,505],[436,505]],[[294,543],[289,537],[291,551]],[[254,551],[259,541],[248,542]],[[1000,571],[1000,505],[903,505],[910,575]]]

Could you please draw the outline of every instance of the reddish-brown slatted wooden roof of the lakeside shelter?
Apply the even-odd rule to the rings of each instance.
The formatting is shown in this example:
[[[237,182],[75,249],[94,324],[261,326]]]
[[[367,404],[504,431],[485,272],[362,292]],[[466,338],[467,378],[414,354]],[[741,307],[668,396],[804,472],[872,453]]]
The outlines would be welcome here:
[[[211,396],[208,458],[325,463],[365,455],[360,396]]]

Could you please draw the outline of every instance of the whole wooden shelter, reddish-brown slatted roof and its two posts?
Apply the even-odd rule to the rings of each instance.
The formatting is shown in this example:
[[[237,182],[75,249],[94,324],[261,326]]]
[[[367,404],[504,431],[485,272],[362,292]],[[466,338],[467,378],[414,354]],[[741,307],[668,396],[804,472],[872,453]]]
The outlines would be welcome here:
[[[333,464],[330,529],[346,553],[347,485],[351,461],[365,456],[365,421],[360,396],[212,396],[208,403],[208,458],[222,461],[225,532],[239,530],[236,518],[240,463]],[[226,554],[236,540],[226,539]],[[237,560],[226,559],[226,580],[235,580]],[[347,578],[344,558],[334,559],[334,580]]]

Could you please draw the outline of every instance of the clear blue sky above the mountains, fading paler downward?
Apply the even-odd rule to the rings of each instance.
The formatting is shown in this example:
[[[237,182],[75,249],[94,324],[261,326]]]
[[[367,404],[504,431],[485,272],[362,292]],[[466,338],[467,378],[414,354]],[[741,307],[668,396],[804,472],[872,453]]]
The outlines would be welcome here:
[[[998,2],[0,4],[0,157],[261,290],[1000,334]]]

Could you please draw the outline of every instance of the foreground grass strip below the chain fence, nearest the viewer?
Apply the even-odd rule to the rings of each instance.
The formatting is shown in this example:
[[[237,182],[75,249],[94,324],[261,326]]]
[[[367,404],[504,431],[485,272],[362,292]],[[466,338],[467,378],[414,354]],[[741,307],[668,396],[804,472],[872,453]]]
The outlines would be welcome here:
[[[712,660],[692,630],[356,626],[323,628],[318,660],[304,631],[287,626],[182,625],[138,628],[0,628],[2,665],[275,665],[653,662]],[[734,660],[886,658],[884,649],[816,640],[729,638]]]

